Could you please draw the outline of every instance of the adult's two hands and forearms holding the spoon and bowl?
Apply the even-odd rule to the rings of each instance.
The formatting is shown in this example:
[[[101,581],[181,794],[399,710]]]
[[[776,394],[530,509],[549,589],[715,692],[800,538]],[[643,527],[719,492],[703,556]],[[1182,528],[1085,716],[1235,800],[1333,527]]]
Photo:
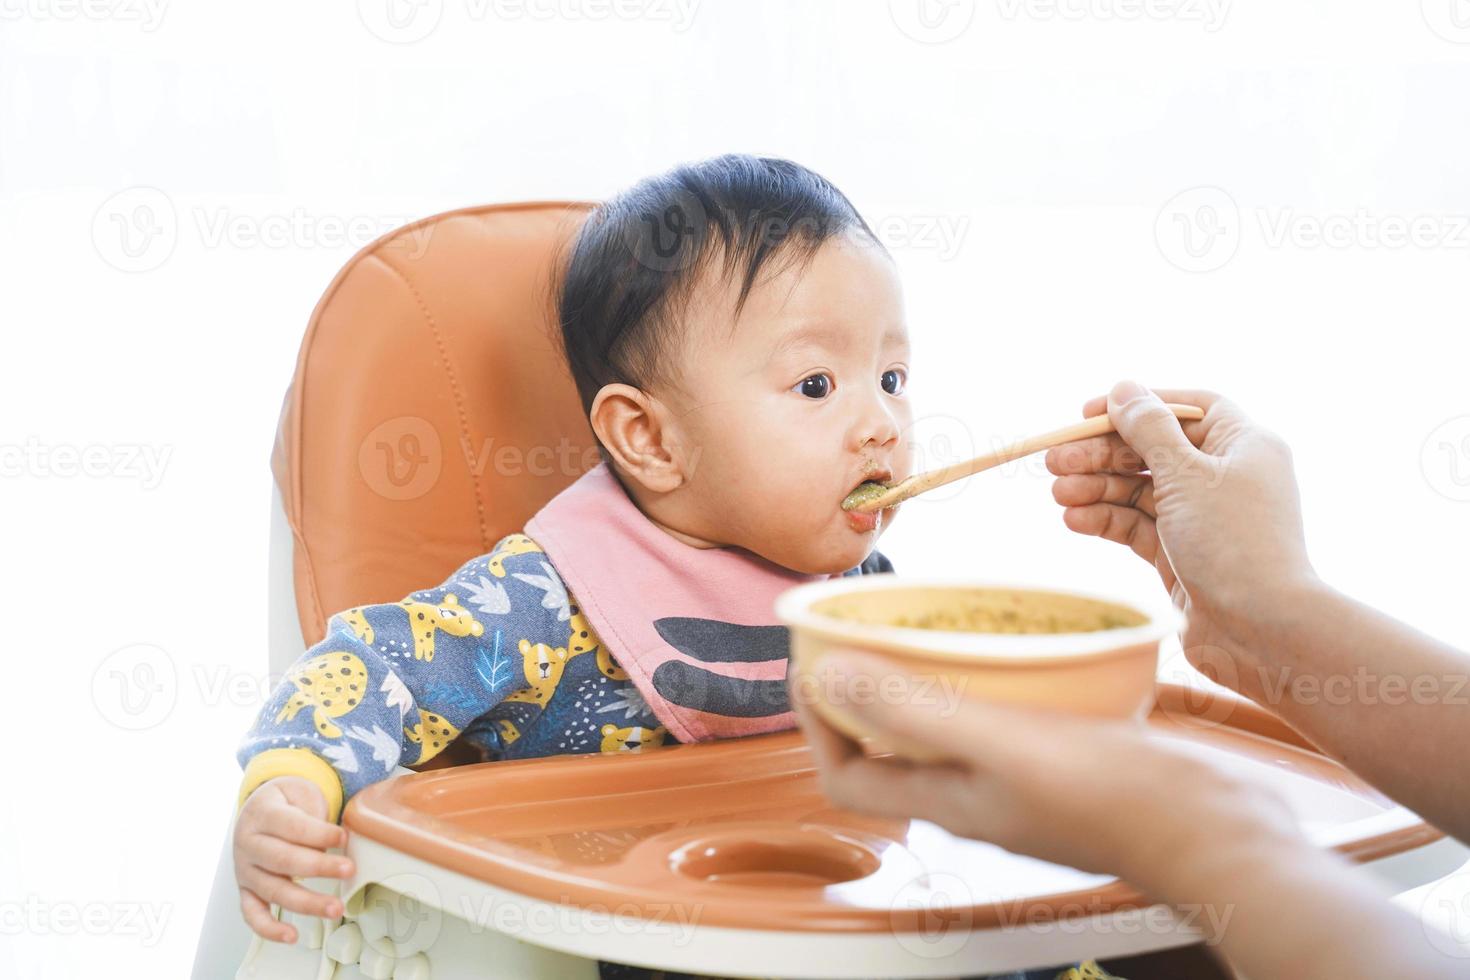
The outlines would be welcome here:
[[[1454,677],[1464,671],[1464,654],[1316,577],[1280,439],[1217,395],[1163,394],[1197,403],[1204,419],[1180,426],[1160,397],[1125,382],[1085,408],[1107,411],[1122,435],[1051,451],[1053,495],[1066,507],[1067,526],[1126,545],[1158,572],[1188,613],[1191,663],[1214,666],[1220,680],[1269,702],[1327,754],[1352,760],[1395,801],[1470,839],[1463,780],[1414,764],[1467,743],[1463,708],[1377,699],[1344,710],[1323,698],[1267,698],[1263,686],[1285,671],[1320,680],[1364,664]],[[816,616],[806,605],[788,611]],[[792,624],[794,664],[804,632]],[[908,676],[901,661],[888,651],[875,651],[882,658],[864,652],[878,645],[873,636],[823,635],[819,642],[831,648],[835,704],[822,699],[825,691],[813,696],[801,688],[792,702],[835,802],[925,817],[1011,851],[1122,874],[1176,911],[1202,902],[1227,912],[1202,926],[1241,976],[1448,980],[1464,973],[1463,959],[1445,955],[1426,923],[1389,905],[1379,883],[1308,843],[1280,801],[1147,738],[1145,726],[1007,704],[944,711],[917,696],[867,696],[882,680]],[[867,758],[828,723],[879,732],[939,764]]]

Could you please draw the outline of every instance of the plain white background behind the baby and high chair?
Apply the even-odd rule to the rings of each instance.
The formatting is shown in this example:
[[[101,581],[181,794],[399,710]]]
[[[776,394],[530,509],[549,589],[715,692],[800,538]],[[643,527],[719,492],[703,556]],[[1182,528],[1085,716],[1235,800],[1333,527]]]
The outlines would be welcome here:
[[[925,1],[0,0],[0,976],[185,974],[301,329],[450,207],[800,160],[903,267],[931,458],[1122,376],[1220,389],[1295,447],[1319,570],[1470,646],[1470,4]],[[1154,588],[1048,485],[976,478],[883,548]],[[172,673],[116,674],[138,644]]]

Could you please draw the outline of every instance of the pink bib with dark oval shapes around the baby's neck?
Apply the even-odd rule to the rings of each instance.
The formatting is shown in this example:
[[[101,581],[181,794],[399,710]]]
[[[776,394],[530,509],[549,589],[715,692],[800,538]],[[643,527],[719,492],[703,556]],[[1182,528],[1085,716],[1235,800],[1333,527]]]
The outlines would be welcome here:
[[[832,576],[686,545],[638,510],[606,463],[551,498],[526,533],[676,739],[795,727],[775,601]]]

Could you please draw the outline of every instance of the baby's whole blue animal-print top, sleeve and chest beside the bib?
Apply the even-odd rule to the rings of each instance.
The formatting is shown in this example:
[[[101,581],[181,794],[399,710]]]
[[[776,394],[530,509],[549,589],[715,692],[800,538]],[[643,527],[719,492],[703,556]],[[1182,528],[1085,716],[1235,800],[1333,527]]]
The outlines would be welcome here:
[[[875,551],[845,574],[891,570]],[[456,739],[497,760],[675,741],[547,555],[517,533],[434,589],[332,616],[241,742],[240,801],[301,776],[335,820],[360,789]]]

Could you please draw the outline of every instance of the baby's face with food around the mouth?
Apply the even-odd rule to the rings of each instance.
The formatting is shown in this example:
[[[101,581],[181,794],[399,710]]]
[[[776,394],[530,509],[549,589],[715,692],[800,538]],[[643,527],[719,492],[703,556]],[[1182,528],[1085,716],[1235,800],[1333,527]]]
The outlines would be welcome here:
[[[782,259],[785,259],[782,256]],[[808,574],[863,561],[897,508],[854,514],[867,479],[908,476],[908,334],[892,262],[857,237],[757,285],[695,289],[676,416],[688,467],[681,527]]]

